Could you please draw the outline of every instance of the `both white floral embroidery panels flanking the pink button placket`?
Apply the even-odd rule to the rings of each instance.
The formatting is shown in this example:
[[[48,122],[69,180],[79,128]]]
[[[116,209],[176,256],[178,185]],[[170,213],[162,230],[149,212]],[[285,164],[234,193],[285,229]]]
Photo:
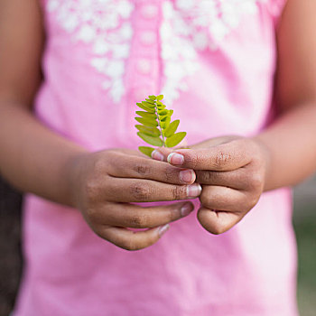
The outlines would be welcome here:
[[[199,52],[215,51],[246,15],[266,0],[165,0],[160,27],[163,94],[168,104],[188,90],[186,79],[200,69]],[[90,47],[91,66],[115,103],[125,94],[125,63],[133,29],[132,0],[48,0],[48,11],[74,42]]]

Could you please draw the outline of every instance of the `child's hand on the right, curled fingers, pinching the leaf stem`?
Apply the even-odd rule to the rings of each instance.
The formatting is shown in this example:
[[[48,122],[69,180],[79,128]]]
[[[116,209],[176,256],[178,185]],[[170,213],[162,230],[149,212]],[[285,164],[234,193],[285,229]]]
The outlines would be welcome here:
[[[212,234],[222,234],[244,218],[259,200],[265,187],[269,154],[256,139],[225,136],[190,149],[158,148],[153,159],[194,169],[196,181],[202,185],[200,224]]]

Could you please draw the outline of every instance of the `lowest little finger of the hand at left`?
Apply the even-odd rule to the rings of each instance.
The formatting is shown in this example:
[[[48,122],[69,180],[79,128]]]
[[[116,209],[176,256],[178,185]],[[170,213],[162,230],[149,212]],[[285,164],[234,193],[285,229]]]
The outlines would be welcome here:
[[[137,232],[127,228],[106,227],[98,235],[125,250],[135,251],[152,246],[168,229],[168,224],[163,227]]]

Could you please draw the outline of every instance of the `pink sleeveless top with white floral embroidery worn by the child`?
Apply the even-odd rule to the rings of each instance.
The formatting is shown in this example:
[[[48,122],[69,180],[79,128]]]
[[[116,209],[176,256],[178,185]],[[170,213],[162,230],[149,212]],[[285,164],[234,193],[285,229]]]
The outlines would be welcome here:
[[[44,0],[43,124],[91,151],[137,148],[135,102],[163,93],[189,144],[254,135],[271,113],[284,0]],[[127,252],[79,211],[28,195],[14,316],[294,316],[291,192],[213,236],[194,215]]]

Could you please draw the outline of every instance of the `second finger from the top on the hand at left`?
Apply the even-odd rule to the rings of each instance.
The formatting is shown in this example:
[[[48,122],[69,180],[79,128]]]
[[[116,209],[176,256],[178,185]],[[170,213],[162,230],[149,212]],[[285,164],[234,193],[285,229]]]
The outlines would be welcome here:
[[[199,183],[175,185],[143,179],[109,178],[104,195],[113,202],[153,202],[194,199],[200,195]]]

